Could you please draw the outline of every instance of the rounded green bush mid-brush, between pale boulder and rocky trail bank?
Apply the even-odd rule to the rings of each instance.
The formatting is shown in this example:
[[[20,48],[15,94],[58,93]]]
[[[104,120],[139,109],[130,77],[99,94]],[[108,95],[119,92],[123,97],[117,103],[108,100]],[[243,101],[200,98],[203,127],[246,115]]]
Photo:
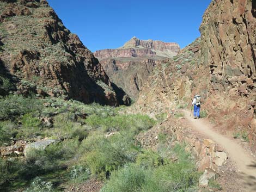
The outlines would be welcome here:
[[[106,139],[95,132],[82,141],[81,164],[88,166],[93,175],[100,178],[128,162],[135,162],[138,149],[134,146],[133,134],[120,132]]]

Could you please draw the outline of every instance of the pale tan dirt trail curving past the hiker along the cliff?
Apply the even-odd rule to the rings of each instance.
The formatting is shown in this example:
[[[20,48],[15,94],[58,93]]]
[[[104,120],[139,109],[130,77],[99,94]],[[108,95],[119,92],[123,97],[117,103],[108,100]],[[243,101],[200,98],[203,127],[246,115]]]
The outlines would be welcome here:
[[[246,191],[256,191],[256,162],[252,156],[234,140],[214,131],[210,123],[203,119],[193,119],[190,112],[182,110],[185,119],[191,125],[192,129],[205,135],[207,138],[214,140],[218,145],[222,146],[228,157],[236,164],[237,170],[241,175],[241,179],[245,184]]]

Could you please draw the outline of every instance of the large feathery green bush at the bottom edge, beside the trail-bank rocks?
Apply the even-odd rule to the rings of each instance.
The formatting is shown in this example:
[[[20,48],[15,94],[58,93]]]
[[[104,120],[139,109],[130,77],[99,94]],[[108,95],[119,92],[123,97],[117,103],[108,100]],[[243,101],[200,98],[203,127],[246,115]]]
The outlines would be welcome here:
[[[150,154],[147,154],[147,158],[143,158],[151,166],[129,164],[114,171],[102,192],[197,191],[199,174],[190,159],[190,154],[186,153],[182,145],[175,146],[173,152],[178,156],[178,162],[154,165],[152,162],[157,159],[158,155],[151,153],[151,157]],[[143,162],[143,160],[139,160],[139,162]]]

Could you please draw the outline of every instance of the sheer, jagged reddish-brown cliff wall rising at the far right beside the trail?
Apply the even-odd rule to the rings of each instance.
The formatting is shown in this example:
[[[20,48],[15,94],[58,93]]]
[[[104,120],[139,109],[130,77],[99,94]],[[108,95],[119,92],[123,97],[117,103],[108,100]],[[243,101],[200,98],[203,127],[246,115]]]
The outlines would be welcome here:
[[[209,66],[211,90],[232,103],[219,112],[233,116],[227,127],[246,128],[256,151],[255,8],[249,0],[212,1],[200,26],[199,59]],[[221,104],[227,106],[227,101]]]

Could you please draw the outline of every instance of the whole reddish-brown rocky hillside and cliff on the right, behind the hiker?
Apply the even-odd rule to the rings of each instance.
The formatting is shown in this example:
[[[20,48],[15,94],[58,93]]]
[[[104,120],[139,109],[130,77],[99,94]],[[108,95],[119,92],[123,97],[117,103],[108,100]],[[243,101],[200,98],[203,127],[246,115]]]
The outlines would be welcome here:
[[[255,10],[254,1],[212,1],[201,37],[156,67],[138,104],[161,112],[190,106],[200,94],[202,110],[223,134],[242,133],[255,152]]]

